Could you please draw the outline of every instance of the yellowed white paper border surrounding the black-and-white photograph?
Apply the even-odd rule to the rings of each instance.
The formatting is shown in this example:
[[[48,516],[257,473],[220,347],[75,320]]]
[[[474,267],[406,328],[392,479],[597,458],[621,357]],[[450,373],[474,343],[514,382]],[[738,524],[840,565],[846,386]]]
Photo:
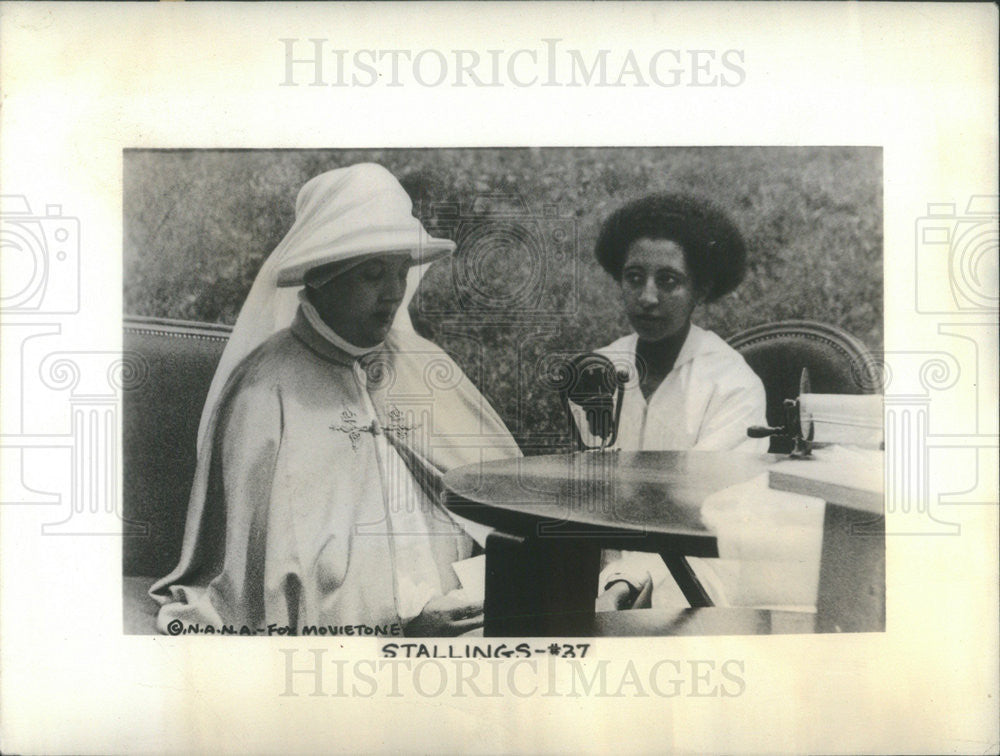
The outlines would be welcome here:
[[[0,14],[5,751],[996,751],[994,6]],[[885,632],[123,634],[125,151],[563,146],[881,151]]]

